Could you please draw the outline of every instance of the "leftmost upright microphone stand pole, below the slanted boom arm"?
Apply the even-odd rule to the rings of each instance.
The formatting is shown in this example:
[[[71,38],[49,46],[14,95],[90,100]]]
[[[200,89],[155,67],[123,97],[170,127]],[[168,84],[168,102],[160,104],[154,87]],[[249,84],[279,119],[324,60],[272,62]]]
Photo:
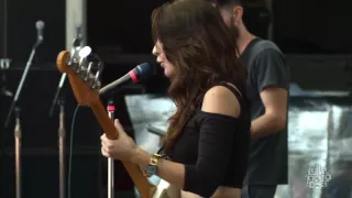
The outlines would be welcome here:
[[[14,155],[15,155],[15,197],[22,197],[22,168],[21,168],[21,121],[20,108],[15,108],[15,127],[14,127]]]

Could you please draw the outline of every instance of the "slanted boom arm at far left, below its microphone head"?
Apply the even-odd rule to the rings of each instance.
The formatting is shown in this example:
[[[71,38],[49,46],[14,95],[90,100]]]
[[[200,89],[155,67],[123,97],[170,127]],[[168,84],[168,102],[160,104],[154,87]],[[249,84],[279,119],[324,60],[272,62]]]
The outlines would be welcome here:
[[[18,100],[19,100],[19,97],[20,97],[20,94],[22,91],[22,87],[23,87],[23,84],[24,84],[24,80],[26,78],[26,75],[30,70],[30,67],[32,65],[32,62],[33,62],[33,58],[34,58],[34,55],[35,55],[35,51],[37,48],[37,46],[40,46],[42,44],[43,40],[37,40],[36,43],[33,45],[33,48],[32,48],[32,52],[31,52],[31,55],[30,55],[30,58],[29,61],[26,62],[26,66],[24,68],[24,72],[23,72],[23,75],[22,75],[22,78],[21,78],[21,81],[19,84],[19,87],[18,87],[18,90],[15,91],[15,95],[14,95],[14,98],[13,98],[13,101],[12,101],[12,105],[10,107],[10,110],[9,110],[9,114],[8,114],[8,118],[6,120],[6,123],[4,123],[4,127],[8,128],[9,123],[10,123],[10,120],[11,120],[11,117],[12,117],[12,112],[13,112],[13,109],[14,107],[16,106],[18,103]]]

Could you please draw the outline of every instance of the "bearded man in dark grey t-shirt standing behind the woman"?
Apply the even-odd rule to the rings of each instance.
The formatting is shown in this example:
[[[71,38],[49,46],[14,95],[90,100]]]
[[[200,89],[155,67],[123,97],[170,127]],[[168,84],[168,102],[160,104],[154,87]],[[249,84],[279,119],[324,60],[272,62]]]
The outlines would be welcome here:
[[[217,0],[216,6],[237,34],[249,70],[252,144],[242,197],[273,198],[277,185],[287,184],[288,67],[274,43],[248,31],[240,0]]]

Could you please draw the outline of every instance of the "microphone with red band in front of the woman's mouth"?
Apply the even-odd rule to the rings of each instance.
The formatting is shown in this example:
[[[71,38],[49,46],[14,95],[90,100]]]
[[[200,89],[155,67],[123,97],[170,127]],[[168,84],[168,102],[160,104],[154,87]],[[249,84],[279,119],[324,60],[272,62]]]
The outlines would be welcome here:
[[[130,70],[128,74],[122,76],[121,78],[101,88],[99,90],[99,95],[106,95],[110,91],[113,91],[116,88],[124,86],[130,82],[136,84],[141,79],[146,78],[150,75],[150,72],[151,72],[150,64],[147,63],[140,64],[134,69]]]

